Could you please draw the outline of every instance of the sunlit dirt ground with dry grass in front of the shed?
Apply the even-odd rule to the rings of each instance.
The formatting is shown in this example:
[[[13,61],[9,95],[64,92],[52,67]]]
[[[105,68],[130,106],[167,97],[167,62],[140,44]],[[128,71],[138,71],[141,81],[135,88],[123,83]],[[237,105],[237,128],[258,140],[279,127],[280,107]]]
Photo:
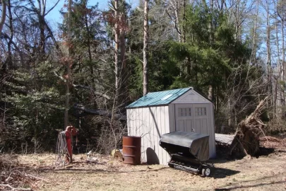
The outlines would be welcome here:
[[[111,156],[75,155],[69,168],[53,169],[54,154],[19,156],[42,178],[33,190],[286,190],[286,152],[236,161],[217,159],[210,178],[161,165],[129,166]]]

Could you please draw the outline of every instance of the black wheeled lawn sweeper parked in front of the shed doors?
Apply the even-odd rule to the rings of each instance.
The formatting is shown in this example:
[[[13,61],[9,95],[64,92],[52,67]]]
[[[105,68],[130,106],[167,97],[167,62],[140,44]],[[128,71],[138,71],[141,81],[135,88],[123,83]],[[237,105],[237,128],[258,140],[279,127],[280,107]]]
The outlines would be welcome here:
[[[171,156],[169,167],[204,177],[210,176],[210,165],[206,163],[209,159],[208,137],[195,132],[171,132],[163,134],[159,144]]]

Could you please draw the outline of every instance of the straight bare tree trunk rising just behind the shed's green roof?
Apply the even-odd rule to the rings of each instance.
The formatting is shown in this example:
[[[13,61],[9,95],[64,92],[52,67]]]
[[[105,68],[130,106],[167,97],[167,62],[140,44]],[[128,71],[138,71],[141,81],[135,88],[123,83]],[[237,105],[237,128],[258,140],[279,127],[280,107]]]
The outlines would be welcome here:
[[[149,40],[149,24],[148,24],[148,0],[144,2],[144,41],[143,41],[143,95],[148,93],[148,40]]]

